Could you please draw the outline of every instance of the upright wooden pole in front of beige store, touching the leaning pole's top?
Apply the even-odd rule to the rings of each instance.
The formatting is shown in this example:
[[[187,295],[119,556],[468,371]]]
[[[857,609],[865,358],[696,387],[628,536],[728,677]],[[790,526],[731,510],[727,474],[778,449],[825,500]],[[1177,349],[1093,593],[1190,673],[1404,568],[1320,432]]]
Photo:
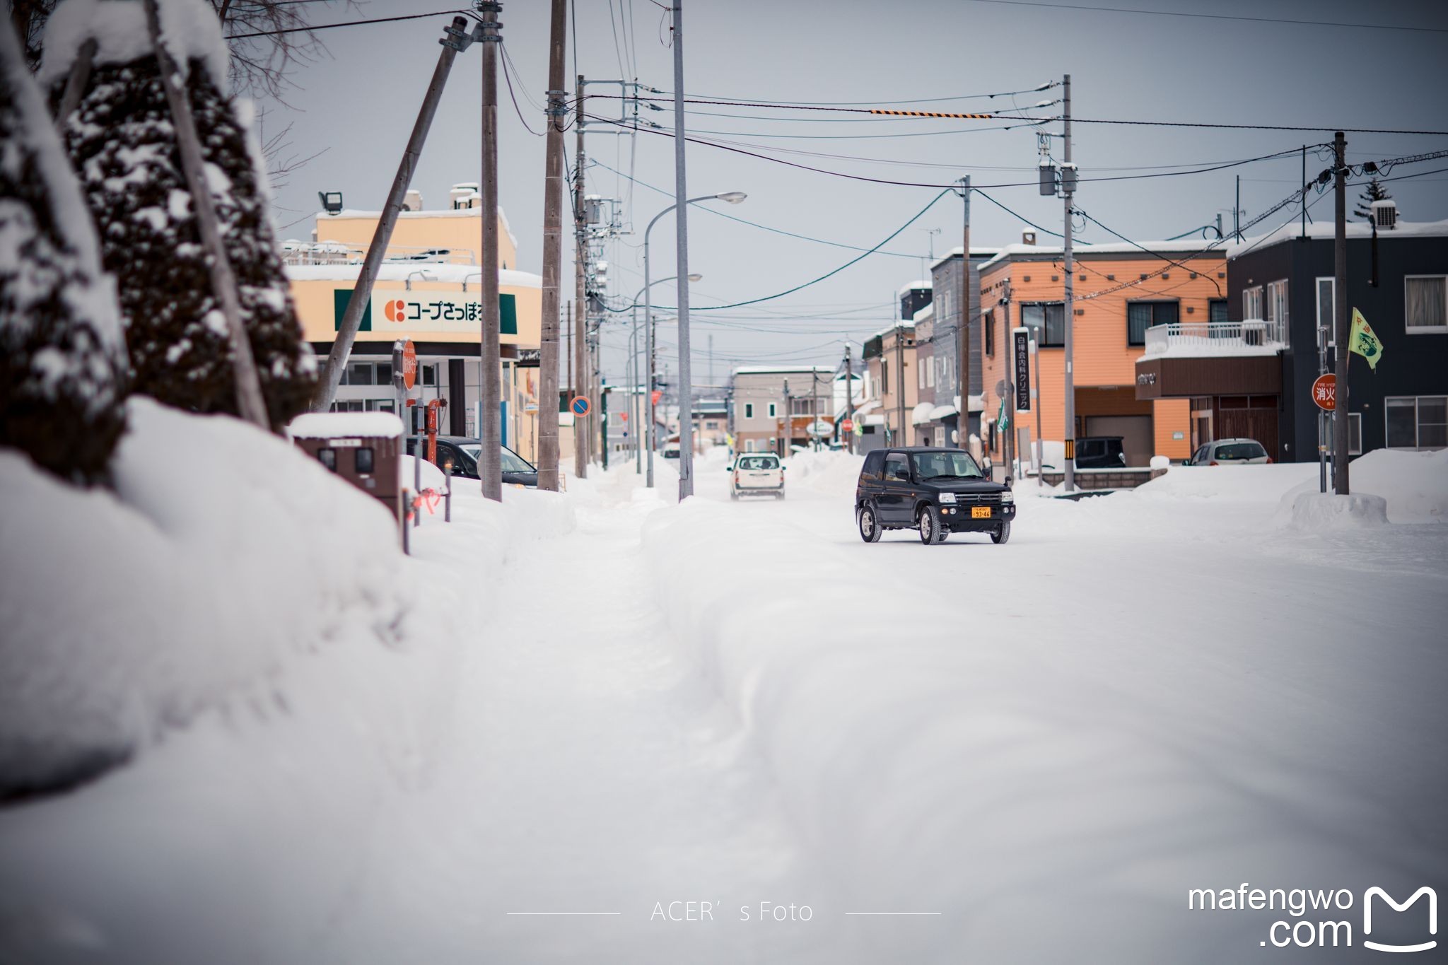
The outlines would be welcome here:
[[[482,409],[478,438],[478,476],[485,499],[502,502],[502,353],[498,344],[498,0],[476,0],[482,16]]]

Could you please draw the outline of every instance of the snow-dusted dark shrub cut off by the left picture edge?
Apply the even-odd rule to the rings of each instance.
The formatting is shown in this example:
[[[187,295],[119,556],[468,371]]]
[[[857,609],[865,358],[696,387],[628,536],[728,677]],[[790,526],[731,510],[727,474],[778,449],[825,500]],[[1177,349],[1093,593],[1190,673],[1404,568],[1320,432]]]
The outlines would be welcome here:
[[[10,23],[0,23],[0,446],[106,477],[126,420],[114,288]]]

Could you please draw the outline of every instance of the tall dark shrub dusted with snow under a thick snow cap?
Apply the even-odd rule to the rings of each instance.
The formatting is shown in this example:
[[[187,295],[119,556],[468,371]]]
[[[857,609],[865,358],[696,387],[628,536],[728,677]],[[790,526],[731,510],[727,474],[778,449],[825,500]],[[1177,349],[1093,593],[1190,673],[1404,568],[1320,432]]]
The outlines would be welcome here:
[[[224,93],[226,46],[207,4],[165,0],[162,26],[172,55],[187,67],[242,323],[268,417],[279,428],[307,408],[316,363],[266,214],[249,111]],[[64,137],[96,218],[104,266],[120,288],[132,391],[193,412],[236,414],[226,321],[211,291],[142,4],[67,0],[56,9],[41,71],[56,101],[85,39],[98,43],[96,65]]]

